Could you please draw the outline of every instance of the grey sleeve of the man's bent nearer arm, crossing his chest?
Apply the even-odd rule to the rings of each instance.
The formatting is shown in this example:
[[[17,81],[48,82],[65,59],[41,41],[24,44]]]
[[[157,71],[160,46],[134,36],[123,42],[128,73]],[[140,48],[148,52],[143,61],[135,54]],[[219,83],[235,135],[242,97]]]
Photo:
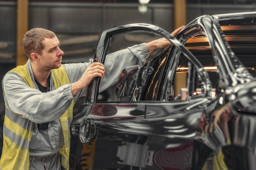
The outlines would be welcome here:
[[[8,72],[2,80],[6,109],[36,123],[59,118],[71,105],[71,84],[42,93],[29,87],[16,73]]]

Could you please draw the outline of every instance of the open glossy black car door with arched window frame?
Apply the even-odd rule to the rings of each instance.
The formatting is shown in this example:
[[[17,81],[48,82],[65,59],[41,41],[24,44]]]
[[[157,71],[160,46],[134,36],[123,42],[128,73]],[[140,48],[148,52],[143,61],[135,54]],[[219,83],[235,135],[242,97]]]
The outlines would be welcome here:
[[[178,166],[191,166],[188,160],[192,159],[198,120],[211,98],[208,74],[198,71],[202,65],[170,33],[149,24],[104,31],[95,58],[104,63],[110,39],[129,31],[153,32],[168,38],[173,46],[157,53],[143,68],[132,65],[124,69],[125,78],[121,72],[119,79],[123,80],[108,90],[114,99],[99,100],[100,78],[92,81],[87,94],[91,98],[74,116],[72,133],[77,135],[71,140],[71,169],[89,166],[83,159],[93,162],[91,166],[95,169],[157,169],[162,166],[162,152],[183,157]],[[175,87],[181,55],[189,67],[181,81],[185,86]]]

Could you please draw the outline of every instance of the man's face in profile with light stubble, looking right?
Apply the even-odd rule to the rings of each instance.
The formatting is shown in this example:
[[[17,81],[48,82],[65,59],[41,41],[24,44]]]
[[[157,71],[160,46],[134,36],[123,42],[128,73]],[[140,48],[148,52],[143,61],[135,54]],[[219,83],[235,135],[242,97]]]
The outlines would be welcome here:
[[[45,48],[42,50],[41,55],[38,55],[42,67],[41,69],[52,70],[60,68],[64,52],[59,48],[60,42],[58,38],[45,38],[43,43],[45,44]]]

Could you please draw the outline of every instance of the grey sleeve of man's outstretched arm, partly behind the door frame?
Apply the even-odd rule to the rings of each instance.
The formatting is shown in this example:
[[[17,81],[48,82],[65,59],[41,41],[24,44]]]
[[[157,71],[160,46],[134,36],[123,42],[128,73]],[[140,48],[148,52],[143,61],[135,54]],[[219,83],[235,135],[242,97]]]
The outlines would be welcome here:
[[[131,65],[143,66],[146,63],[148,55],[146,43],[108,54],[104,63],[105,75],[101,78],[100,92],[114,85],[124,68]],[[86,68],[91,65],[92,62],[93,59],[90,59],[88,63],[71,63],[64,64],[63,66],[70,77],[70,81],[76,82],[81,78],[83,72],[85,72]],[[86,89],[76,96],[84,96],[85,91]]]

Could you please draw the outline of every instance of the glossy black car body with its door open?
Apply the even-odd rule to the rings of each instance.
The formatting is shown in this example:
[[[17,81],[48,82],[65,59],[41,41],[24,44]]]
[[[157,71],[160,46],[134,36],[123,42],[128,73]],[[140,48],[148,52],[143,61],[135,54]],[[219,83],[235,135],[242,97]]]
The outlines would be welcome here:
[[[114,99],[99,100],[94,79],[71,126],[70,169],[255,169],[255,20],[254,12],[204,15],[176,38],[150,24],[104,31],[95,54],[102,63],[111,38],[124,33],[152,32],[173,45],[126,68],[109,89]]]

